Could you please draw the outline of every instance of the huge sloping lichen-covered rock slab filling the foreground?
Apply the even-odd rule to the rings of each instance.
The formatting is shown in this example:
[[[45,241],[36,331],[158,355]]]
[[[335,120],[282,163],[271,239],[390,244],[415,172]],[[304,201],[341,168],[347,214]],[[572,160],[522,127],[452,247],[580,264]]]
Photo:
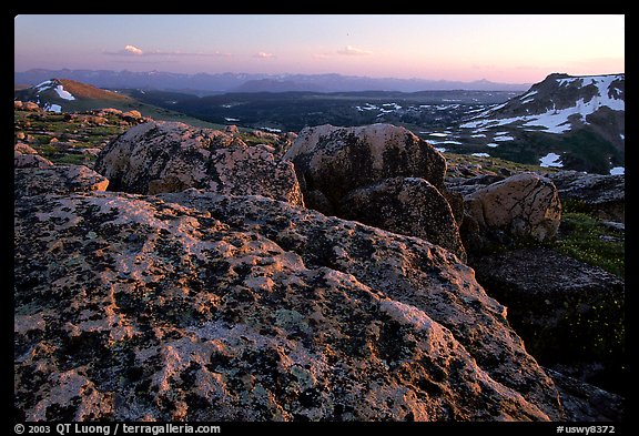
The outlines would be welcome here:
[[[551,379],[444,249],[264,196],[14,209],[21,420],[545,420]]]

